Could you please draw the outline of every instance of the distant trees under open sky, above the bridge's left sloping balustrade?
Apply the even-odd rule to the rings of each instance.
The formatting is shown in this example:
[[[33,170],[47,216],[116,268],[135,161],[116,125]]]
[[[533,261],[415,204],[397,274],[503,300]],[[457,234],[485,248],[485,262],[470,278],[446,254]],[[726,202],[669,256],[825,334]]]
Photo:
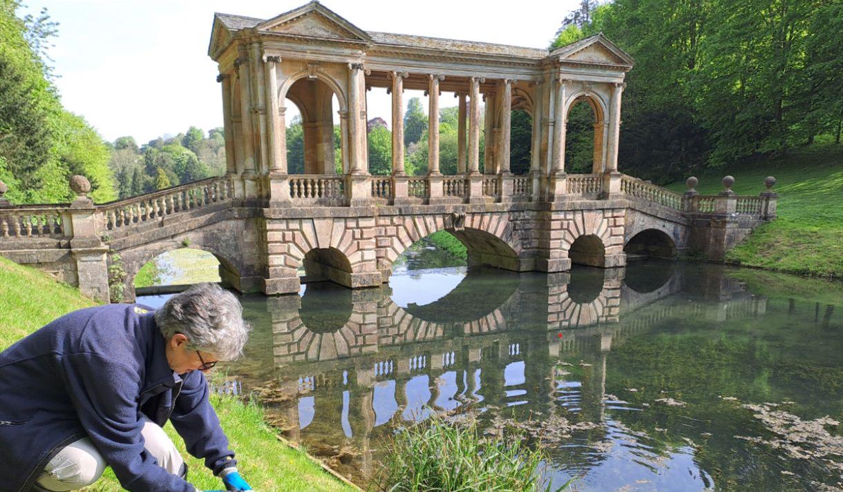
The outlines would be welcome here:
[[[110,167],[121,199],[221,176],[226,168],[223,129],[213,128],[206,137],[191,126],[187,133],[158,137],[142,147],[131,136],[121,136],[111,144]]]

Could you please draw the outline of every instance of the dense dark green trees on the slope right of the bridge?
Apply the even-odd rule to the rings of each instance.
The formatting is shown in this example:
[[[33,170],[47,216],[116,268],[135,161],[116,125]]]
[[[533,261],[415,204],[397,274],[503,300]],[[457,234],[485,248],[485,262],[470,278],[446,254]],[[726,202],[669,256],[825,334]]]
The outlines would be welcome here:
[[[620,136],[631,174],[668,182],[820,135],[840,140],[840,2],[583,2],[552,47],[599,31],[636,60]]]

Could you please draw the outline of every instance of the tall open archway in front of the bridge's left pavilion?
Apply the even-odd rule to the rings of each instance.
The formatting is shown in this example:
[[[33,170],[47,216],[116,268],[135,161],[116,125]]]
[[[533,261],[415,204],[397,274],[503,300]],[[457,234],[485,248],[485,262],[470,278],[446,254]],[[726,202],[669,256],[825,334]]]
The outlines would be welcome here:
[[[319,78],[299,78],[287,89],[285,98],[287,173],[342,174],[347,159],[341,104],[334,91]]]

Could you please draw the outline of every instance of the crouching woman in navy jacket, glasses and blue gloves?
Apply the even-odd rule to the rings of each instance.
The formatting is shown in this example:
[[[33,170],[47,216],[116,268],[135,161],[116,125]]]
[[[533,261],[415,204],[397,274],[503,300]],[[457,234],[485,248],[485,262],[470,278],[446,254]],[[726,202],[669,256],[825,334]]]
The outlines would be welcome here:
[[[94,484],[110,466],[132,492],[195,492],[162,426],[229,490],[250,490],[208,402],[204,372],[248,338],[228,291],[200,284],[158,311],[89,307],[0,353],[0,492]]]

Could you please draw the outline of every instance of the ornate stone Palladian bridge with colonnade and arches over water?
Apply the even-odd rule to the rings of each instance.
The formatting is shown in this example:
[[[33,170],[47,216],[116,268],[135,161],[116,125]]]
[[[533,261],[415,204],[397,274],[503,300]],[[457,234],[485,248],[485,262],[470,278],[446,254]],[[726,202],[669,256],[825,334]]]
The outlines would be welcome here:
[[[720,259],[776,214],[774,179],[760,195],[737,196],[727,177],[720,195],[703,196],[693,178],[680,195],[620,173],[633,61],[602,34],[548,51],[368,32],[313,2],[273,19],[217,13],[208,54],[222,89],[223,177],[100,205],[83,177],[72,179],[71,204],[11,206],[0,184],[0,254],[101,300],[111,272],[112,291],[132,301],[143,264],[191,245],[217,257],[229,286],[282,294],[302,278],[379,286],[411,243],[440,230],[465,244],[471,264],[560,272],[685,250]],[[370,88],[392,98],[389,175],[368,170]],[[405,173],[405,89],[429,96],[422,176]],[[443,93],[459,103],[454,175],[439,166]],[[287,168],[291,103],[302,115],[304,174]],[[566,173],[566,119],[579,103],[595,121],[589,174]],[[526,174],[510,167],[518,109],[532,118]]]

